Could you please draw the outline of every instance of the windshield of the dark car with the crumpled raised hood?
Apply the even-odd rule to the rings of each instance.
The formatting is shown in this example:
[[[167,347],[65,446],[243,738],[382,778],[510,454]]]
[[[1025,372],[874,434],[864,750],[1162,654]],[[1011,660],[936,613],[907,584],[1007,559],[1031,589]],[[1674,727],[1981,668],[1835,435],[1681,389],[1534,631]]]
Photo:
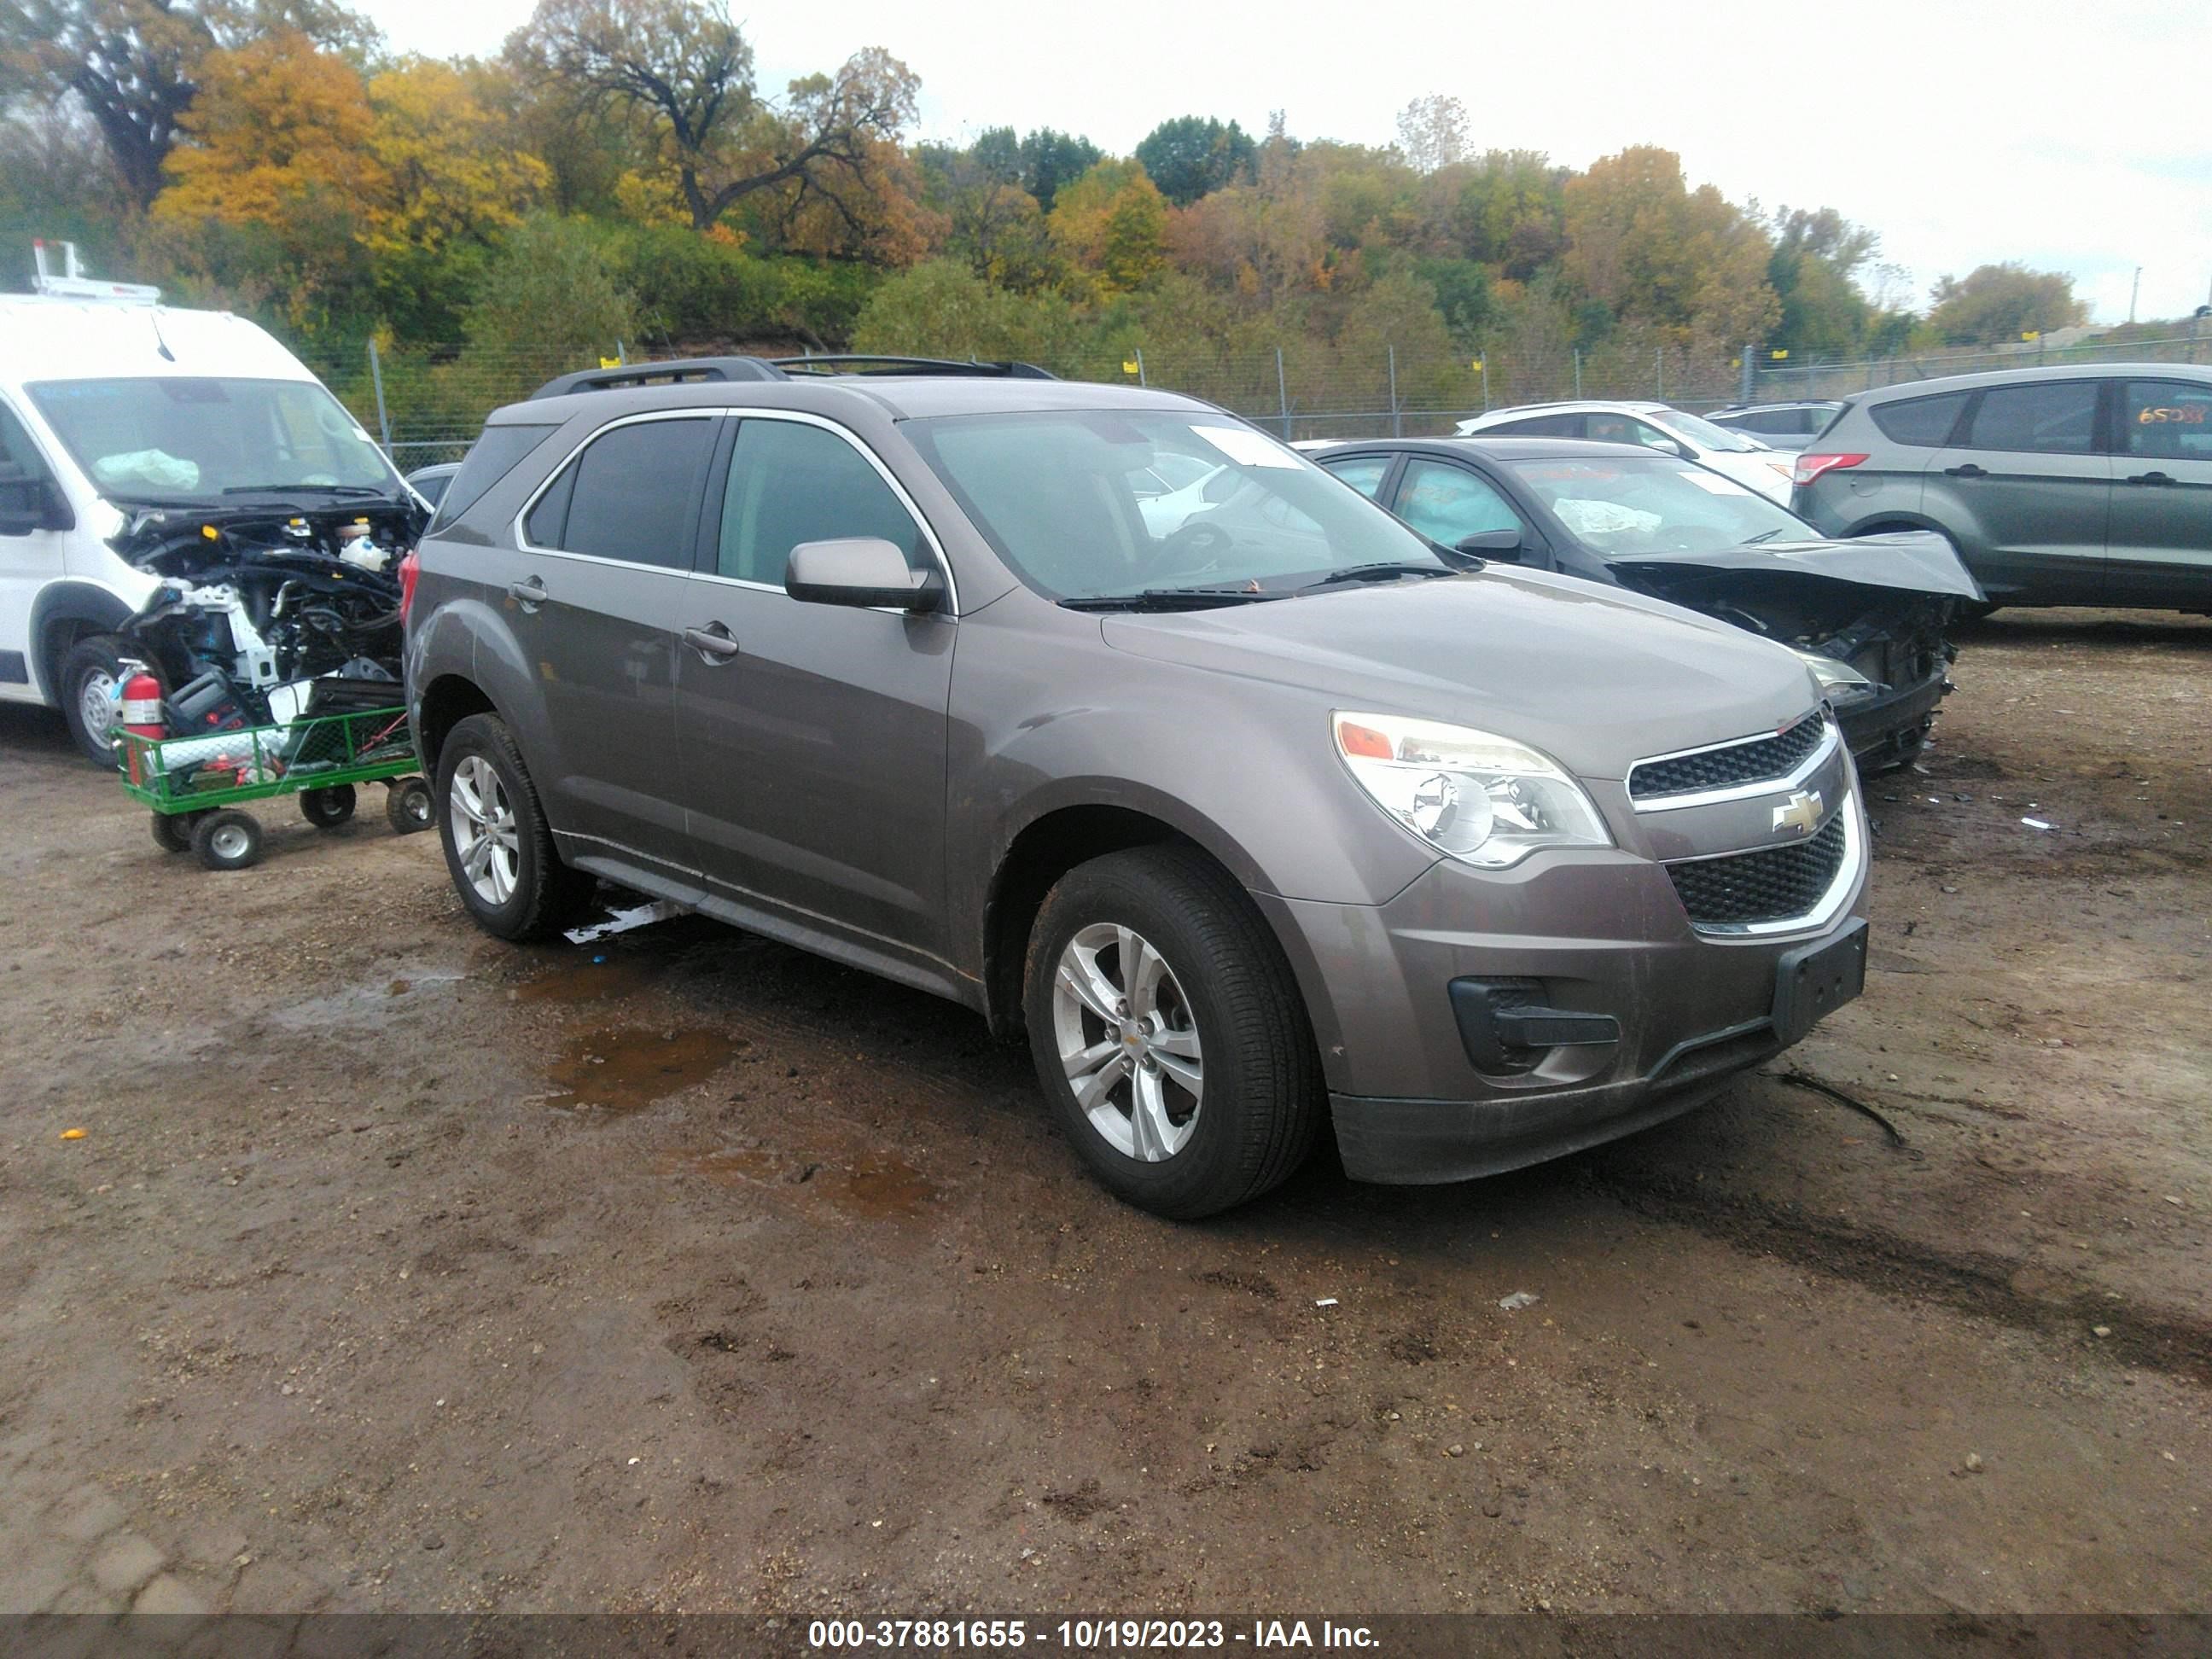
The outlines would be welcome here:
[[[1717,553],[1820,535],[1734,478],[1668,456],[1504,465],[1577,540],[1606,557]]]

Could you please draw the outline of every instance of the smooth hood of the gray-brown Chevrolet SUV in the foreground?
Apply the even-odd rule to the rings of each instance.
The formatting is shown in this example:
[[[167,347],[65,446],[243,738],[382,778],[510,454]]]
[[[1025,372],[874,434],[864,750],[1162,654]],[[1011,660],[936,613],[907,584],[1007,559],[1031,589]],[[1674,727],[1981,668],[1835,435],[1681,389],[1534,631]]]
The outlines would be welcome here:
[[[1776,730],[1818,701],[1805,664],[1725,622],[1495,566],[1221,611],[1108,615],[1102,630],[1133,657],[1296,686],[1334,708],[1498,732],[1586,779]]]

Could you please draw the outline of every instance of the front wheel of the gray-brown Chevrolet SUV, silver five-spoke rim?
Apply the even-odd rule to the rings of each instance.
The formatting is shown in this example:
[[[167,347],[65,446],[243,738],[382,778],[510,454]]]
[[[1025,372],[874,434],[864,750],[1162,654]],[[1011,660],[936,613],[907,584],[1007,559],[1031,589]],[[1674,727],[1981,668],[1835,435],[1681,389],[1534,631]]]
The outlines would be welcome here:
[[[1314,1146],[1321,1062],[1283,949],[1197,849],[1093,858],[1046,894],[1022,1011],[1037,1082],[1091,1172],[1197,1219]]]

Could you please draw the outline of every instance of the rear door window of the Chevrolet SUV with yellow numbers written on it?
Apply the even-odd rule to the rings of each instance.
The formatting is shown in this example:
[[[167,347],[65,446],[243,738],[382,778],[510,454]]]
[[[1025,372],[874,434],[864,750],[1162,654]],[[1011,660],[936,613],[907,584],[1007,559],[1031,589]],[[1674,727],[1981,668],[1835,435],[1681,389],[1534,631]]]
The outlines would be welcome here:
[[[688,571],[712,449],[712,416],[639,420],[593,438],[531,509],[531,544]]]

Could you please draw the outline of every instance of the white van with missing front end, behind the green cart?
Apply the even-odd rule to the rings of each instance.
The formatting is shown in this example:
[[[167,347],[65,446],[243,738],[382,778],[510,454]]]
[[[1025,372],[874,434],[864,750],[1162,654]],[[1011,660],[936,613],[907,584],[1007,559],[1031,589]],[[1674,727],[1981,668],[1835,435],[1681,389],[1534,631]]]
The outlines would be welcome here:
[[[0,699],[60,708],[113,765],[117,630],[164,580],[257,549],[411,540],[422,504],[263,330],[153,290],[0,294]],[[93,294],[113,294],[100,299]],[[177,664],[157,675],[188,675]]]

